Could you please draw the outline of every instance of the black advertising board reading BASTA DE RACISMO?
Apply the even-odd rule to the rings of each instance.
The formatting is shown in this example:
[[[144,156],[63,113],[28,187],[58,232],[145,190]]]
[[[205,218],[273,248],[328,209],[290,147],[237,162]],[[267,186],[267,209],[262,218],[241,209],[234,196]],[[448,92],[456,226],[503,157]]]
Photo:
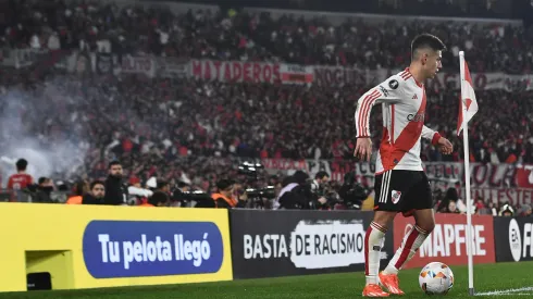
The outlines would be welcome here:
[[[230,219],[235,278],[364,270],[370,212],[232,210]],[[392,257],[392,231],[382,260]]]

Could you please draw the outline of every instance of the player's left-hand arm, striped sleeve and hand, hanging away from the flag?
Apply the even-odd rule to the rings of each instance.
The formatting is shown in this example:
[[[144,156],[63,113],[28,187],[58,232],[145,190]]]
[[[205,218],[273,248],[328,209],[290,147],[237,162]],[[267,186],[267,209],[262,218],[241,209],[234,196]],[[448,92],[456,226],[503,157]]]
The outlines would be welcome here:
[[[372,155],[372,141],[370,140],[370,112],[377,103],[397,103],[404,98],[405,80],[398,76],[392,76],[359,98],[356,109],[357,144],[354,155],[370,161]]]

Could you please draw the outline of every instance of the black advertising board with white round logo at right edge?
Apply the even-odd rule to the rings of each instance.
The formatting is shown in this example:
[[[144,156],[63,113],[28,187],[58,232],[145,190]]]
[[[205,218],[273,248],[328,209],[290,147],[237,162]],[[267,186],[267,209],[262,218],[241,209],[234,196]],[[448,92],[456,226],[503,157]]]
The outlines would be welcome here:
[[[496,262],[533,260],[533,217],[494,217]]]

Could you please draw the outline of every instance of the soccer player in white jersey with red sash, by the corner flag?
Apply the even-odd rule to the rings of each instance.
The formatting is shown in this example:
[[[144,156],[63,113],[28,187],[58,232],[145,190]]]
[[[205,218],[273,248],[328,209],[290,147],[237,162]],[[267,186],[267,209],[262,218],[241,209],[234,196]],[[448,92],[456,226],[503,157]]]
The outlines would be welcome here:
[[[383,138],[376,158],[374,217],[364,237],[367,285],[364,297],[404,295],[398,271],[408,262],[435,226],[430,182],[420,159],[420,138],[431,140],[441,152],[454,147],[437,132],[424,126],[425,89],[423,82],[433,78],[442,65],[446,47],[430,34],[417,36],[411,43],[411,64],[370,89],[358,101],[356,110],[357,145],[354,155],[370,161],[372,141],[369,119],[372,107],[382,104]],[[380,251],[385,233],[397,213],[414,216],[416,225],[384,271],[380,271]],[[379,286],[388,290],[383,291]]]

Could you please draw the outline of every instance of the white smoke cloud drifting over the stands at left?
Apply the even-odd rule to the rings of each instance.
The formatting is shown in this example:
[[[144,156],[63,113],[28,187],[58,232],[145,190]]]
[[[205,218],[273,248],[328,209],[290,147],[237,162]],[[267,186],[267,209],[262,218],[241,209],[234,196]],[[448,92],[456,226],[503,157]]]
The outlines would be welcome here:
[[[0,173],[2,187],[9,175],[16,172],[16,160],[28,161],[27,172],[37,179],[41,176],[70,176],[76,173],[87,152],[83,133],[71,126],[70,114],[55,110],[61,101],[73,102],[64,88],[46,83],[39,90],[18,88],[1,90],[0,98]],[[64,83],[63,83],[64,84]],[[66,103],[65,103],[66,104]],[[23,115],[25,115],[23,117]],[[55,124],[62,120],[61,125]],[[55,124],[60,134],[49,139],[44,129]],[[45,134],[44,134],[45,133]]]

